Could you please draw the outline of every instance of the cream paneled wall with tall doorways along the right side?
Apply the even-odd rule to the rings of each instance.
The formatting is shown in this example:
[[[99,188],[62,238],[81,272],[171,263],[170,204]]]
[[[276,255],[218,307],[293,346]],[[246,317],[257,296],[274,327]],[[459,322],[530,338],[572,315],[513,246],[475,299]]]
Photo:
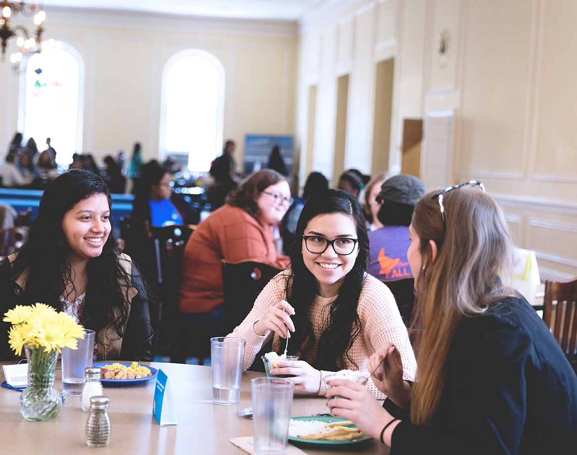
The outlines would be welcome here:
[[[317,128],[328,133],[314,140],[313,169],[336,172],[325,166],[335,137],[334,84],[349,74],[345,167],[370,171],[376,63],[394,58],[388,170],[400,170],[403,118],[423,117],[428,187],[483,181],[518,245],[537,253],[541,278],[577,275],[577,3],[336,3],[302,21],[298,105],[311,84],[331,94],[317,104]],[[297,125],[304,137],[306,118]],[[306,142],[301,147],[301,163],[310,161]]]

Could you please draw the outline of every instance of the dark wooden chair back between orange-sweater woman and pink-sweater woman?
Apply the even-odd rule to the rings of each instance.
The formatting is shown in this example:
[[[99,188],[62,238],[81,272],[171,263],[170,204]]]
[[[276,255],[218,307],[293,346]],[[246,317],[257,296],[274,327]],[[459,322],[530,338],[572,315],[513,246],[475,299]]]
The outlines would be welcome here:
[[[222,259],[226,333],[231,333],[249,314],[254,300],[280,268],[258,260],[228,262]]]

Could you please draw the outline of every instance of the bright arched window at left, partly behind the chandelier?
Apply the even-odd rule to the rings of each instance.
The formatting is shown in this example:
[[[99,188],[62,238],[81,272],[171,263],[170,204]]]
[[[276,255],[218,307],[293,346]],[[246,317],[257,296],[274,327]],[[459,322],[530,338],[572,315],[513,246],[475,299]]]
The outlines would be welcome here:
[[[82,150],[84,62],[63,44],[32,55],[25,65],[18,129],[35,139],[39,151],[50,137],[57,163],[69,165],[74,152]]]

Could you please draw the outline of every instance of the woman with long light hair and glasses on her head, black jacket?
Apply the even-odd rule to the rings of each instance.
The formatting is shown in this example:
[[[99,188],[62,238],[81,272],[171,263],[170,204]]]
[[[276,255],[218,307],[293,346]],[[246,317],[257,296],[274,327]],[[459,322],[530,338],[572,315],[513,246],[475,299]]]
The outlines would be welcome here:
[[[577,376],[545,323],[497,276],[514,258],[503,213],[479,182],[426,193],[407,256],[419,292],[418,382],[387,343],[374,383],[331,381],[332,412],[391,453],[575,453]],[[504,275],[503,275],[504,276]],[[349,398],[348,400],[346,398]]]

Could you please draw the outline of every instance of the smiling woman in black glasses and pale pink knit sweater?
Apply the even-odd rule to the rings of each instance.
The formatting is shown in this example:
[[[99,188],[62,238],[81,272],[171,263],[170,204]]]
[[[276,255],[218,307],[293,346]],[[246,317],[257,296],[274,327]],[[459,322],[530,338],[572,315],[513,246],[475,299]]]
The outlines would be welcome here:
[[[273,338],[272,349],[298,355],[272,374],[294,375],[295,390],[323,395],[323,377],[351,368],[369,375],[369,355],[384,342],[403,359],[413,380],[415,357],[387,286],[366,274],[369,239],[361,206],[349,193],[328,189],[306,202],[290,249],[291,269],[273,278],[233,332],[246,340],[245,369]],[[290,332],[290,333],[289,333]],[[260,359],[258,359],[260,361]],[[377,398],[383,394],[367,383]]]

